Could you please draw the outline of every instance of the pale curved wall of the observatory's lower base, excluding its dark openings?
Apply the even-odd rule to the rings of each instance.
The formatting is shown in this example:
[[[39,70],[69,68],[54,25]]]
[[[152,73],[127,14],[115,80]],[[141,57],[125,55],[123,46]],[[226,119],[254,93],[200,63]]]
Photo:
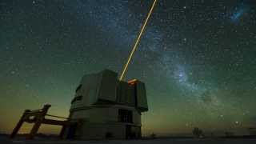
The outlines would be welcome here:
[[[131,110],[133,122],[118,122],[119,109]],[[127,125],[136,126],[139,130],[141,127],[141,114],[130,106],[115,105],[74,110],[70,118],[80,122],[74,134],[74,138],[77,139],[105,139],[107,133],[112,135],[111,138],[124,139]],[[140,131],[138,132],[140,133]]]

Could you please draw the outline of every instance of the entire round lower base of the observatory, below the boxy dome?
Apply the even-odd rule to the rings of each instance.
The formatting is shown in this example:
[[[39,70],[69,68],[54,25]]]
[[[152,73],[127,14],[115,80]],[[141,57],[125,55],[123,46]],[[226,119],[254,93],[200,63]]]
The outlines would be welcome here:
[[[95,106],[70,115],[77,125],[66,128],[71,139],[141,138],[141,115],[129,106]]]

